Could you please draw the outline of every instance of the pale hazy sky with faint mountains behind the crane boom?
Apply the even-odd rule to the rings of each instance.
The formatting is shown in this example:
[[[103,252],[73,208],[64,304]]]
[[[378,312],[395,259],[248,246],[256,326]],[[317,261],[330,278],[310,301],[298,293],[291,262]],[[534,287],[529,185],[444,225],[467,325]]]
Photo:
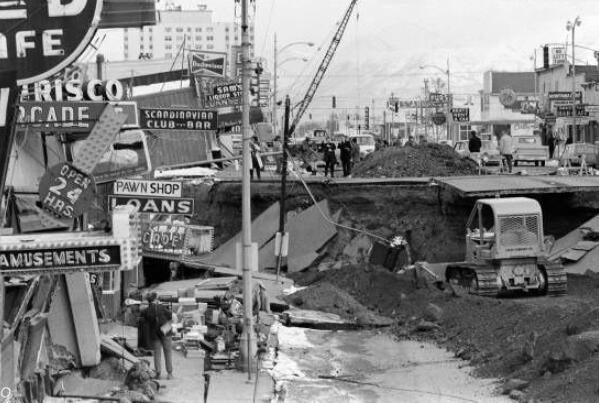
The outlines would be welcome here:
[[[197,2],[179,3],[193,7]],[[234,0],[201,3],[214,10],[215,20],[234,17]],[[281,46],[312,41],[326,49],[348,5],[349,0],[258,0],[257,55],[272,63],[275,32]],[[364,105],[391,92],[416,96],[424,78],[445,79],[434,68],[419,66],[445,68],[447,58],[452,92],[477,93],[486,70],[531,71],[535,49],[540,65],[540,45],[569,40],[566,22],[577,15],[582,25],[576,43],[599,49],[597,0],[359,0],[318,97],[337,95],[340,102]],[[301,97],[323,51],[314,54],[309,48],[294,47],[281,55],[281,59],[311,59],[281,68],[281,90]],[[592,51],[577,49],[576,58],[582,64],[596,63]]]

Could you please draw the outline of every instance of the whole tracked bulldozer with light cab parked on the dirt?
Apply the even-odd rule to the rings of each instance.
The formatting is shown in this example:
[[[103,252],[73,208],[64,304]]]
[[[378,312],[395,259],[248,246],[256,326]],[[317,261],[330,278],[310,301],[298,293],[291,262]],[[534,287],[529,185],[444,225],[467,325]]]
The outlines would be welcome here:
[[[477,200],[466,224],[465,262],[447,265],[445,277],[490,297],[567,289],[562,264],[547,259],[541,206],[527,197]]]

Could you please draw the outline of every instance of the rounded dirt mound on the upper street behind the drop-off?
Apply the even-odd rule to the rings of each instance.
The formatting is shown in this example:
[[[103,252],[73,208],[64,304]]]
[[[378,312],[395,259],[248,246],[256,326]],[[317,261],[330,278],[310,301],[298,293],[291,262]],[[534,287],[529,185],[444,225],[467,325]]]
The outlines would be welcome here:
[[[352,170],[353,176],[362,178],[476,174],[478,165],[474,161],[460,157],[447,145],[436,143],[375,151]]]

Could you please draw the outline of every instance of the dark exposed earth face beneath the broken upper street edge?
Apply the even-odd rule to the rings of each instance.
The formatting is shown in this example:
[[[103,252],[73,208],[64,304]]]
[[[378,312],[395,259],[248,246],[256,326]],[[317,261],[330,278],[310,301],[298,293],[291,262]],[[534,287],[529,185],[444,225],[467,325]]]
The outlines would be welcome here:
[[[331,211],[341,209],[341,220],[346,224],[385,238],[407,235],[415,260],[464,258],[465,225],[474,198],[460,198],[430,185],[311,183],[310,188],[318,200],[328,199]],[[195,199],[194,222],[215,227],[215,248],[241,230],[241,184],[188,185],[185,193]],[[287,193],[287,211],[312,205],[300,183],[292,182]],[[599,192],[523,196],[540,202],[545,235],[556,239],[599,214]],[[278,183],[252,183],[252,217],[279,197]]]

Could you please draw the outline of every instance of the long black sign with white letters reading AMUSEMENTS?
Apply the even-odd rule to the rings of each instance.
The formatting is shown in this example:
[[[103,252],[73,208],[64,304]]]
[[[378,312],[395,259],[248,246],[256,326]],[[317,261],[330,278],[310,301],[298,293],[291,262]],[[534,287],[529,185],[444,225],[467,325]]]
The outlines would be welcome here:
[[[52,249],[0,249],[0,273],[68,271],[72,269],[117,269],[121,266],[121,247],[101,245],[54,247]]]

